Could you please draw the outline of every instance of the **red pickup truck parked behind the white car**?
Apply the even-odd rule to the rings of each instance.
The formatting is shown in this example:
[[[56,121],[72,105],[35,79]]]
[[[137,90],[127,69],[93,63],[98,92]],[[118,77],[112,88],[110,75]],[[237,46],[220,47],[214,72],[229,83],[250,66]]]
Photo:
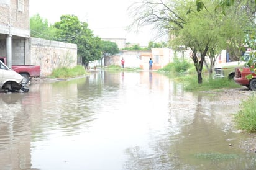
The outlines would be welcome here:
[[[6,64],[5,57],[0,57],[0,60],[2,63]],[[39,78],[41,73],[40,66],[35,65],[12,65],[11,69],[21,74],[25,78],[22,81],[24,84],[29,83],[31,78]]]

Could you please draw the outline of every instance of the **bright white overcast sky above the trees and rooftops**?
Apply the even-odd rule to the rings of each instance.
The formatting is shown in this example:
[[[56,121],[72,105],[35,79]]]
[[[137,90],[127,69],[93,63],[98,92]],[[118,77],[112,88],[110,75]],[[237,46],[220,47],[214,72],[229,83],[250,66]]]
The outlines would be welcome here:
[[[133,0],[132,0],[133,1]],[[139,29],[139,34],[127,32],[126,27],[132,22],[127,9],[131,0],[30,0],[30,17],[39,14],[50,24],[58,22],[60,16],[74,14],[87,22],[89,29],[100,38],[126,38],[126,42],[147,45],[155,40],[155,34],[149,28]],[[72,3],[70,3],[72,2]]]

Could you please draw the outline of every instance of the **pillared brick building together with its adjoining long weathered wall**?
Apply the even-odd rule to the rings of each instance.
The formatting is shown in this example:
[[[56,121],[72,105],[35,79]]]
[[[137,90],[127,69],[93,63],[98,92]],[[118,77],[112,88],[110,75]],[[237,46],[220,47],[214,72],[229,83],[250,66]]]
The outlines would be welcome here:
[[[0,0],[0,56],[7,66],[40,65],[48,76],[77,65],[77,45],[30,37],[29,0]]]

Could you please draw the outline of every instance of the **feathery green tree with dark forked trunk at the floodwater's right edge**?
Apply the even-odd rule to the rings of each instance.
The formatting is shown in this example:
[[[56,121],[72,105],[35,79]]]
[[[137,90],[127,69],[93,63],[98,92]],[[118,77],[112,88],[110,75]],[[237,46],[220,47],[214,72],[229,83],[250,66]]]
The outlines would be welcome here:
[[[173,47],[188,47],[191,49],[191,58],[198,75],[198,83],[202,83],[202,69],[206,55],[214,57],[227,43],[241,38],[241,27],[244,22],[235,20],[224,27],[222,14],[215,12],[214,1],[204,2],[207,10],[196,12],[194,1],[144,1],[142,4],[133,4],[132,15],[135,17],[133,25],[144,26],[153,24],[162,32],[168,34]],[[246,18],[246,17],[245,17]],[[231,21],[231,20],[229,20]],[[235,26],[235,27],[234,27]],[[235,29],[233,29],[235,28]],[[240,28],[240,29],[239,29]],[[214,60],[211,60],[214,61]],[[211,63],[213,66],[213,63]],[[210,71],[211,72],[211,71]]]

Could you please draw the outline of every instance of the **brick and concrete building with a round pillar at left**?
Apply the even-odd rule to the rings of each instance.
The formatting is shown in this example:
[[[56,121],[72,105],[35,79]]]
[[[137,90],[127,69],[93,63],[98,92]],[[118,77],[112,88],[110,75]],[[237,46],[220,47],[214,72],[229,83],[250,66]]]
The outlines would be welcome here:
[[[7,66],[30,64],[29,0],[0,0],[0,56]]]

